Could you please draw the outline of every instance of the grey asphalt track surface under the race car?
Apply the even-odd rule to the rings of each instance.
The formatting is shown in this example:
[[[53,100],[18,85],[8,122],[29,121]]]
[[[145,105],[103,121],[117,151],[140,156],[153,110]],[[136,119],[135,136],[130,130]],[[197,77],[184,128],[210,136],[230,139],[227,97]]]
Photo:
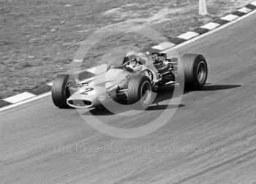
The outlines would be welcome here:
[[[0,112],[0,183],[255,183],[255,25],[253,14],[178,50],[206,55],[208,85],[145,137],[101,134],[50,96]],[[157,117],[159,104],[132,118],[91,112],[130,128]]]

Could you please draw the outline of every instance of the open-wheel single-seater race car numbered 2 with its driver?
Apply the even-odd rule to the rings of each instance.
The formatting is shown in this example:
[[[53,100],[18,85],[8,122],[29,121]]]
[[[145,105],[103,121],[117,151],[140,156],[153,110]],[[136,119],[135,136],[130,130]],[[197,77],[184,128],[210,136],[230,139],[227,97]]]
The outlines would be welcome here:
[[[77,82],[70,74],[59,74],[53,80],[52,99],[59,108],[99,107],[105,99],[137,104],[145,110],[152,103],[151,91],[162,85],[183,83],[184,88],[198,90],[208,76],[206,58],[185,54],[179,61],[168,50],[133,52],[135,58],[117,57],[107,71],[93,80]]]

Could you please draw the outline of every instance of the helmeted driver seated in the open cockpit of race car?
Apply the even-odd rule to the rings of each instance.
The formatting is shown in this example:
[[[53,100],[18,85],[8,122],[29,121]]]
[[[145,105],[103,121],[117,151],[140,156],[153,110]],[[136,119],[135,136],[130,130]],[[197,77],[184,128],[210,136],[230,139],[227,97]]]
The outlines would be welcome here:
[[[139,71],[141,69],[140,57],[137,52],[129,51],[125,55],[125,66],[132,69],[132,71]]]

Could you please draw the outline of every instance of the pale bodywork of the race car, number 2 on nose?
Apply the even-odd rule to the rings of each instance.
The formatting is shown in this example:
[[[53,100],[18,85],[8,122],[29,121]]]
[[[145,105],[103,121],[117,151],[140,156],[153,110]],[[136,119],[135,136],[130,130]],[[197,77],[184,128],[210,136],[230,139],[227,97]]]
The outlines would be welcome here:
[[[99,74],[82,84],[78,91],[73,93],[68,99],[67,104],[75,108],[89,108],[97,107],[101,104],[100,101],[104,99],[116,99],[118,96],[117,89],[122,83],[128,83],[129,79],[133,76],[148,76],[154,87],[154,84],[159,82],[159,74],[154,66],[154,61],[143,52],[138,52],[140,55],[141,65],[136,71],[129,71],[126,66],[111,66],[108,71]]]

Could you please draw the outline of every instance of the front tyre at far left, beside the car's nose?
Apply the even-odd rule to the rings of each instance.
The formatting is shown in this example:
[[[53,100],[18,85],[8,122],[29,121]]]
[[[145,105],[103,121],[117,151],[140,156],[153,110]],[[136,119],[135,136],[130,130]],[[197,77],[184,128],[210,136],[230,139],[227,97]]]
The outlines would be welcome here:
[[[75,78],[69,74],[58,74],[53,80],[53,86],[51,88],[53,104],[61,109],[71,108],[67,104],[67,99],[72,93],[71,88],[76,88]]]

